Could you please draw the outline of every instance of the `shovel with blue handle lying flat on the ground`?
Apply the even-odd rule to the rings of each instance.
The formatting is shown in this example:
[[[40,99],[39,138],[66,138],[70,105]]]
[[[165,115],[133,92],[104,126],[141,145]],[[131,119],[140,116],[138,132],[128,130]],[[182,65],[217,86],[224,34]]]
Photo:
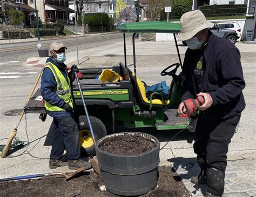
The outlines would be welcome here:
[[[0,179],[0,182],[3,181],[14,181],[14,180],[22,180],[22,179],[31,179],[31,178],[38,178],[38,177],[44,177],[44,176],[63,176],[65,177],[66,181],[69,181],[70,179],[75,178],[76,175],[82,173],[83,171],[85,171],[85,169],[87,169],[87,167],[80,167],[78,168],[75,172],[71,172],[71,173],[61,173],[61,172],[53,172],[53,173],[45,173],[45,174],[32,174],[32,175],[25,175],[25,176],[15,176],[12,178],[5,178],[5,179]]]

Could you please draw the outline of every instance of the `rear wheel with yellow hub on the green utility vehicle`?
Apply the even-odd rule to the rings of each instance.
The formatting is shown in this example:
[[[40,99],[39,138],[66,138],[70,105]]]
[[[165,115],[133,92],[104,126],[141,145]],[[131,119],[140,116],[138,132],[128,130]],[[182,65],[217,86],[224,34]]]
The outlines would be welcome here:
[[[100,119],[90,116],[90,120],[96,141],[107,135],[106,127]],[[95,145],[86,116],[79,117],[79,144],[82,154],[85,154],[87,157],[96,155]]]

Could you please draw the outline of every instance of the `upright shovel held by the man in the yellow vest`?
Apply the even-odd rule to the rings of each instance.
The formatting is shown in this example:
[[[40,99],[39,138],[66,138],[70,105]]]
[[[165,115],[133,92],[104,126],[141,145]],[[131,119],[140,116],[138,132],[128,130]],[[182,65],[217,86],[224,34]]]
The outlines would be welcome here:
[[[80,80],[78,78],[78,75],[77,75],[77,72],[75,72],[75,77],[76,77],[76,80],[77,80],[77,85],[78,85],[78,88],[79,88],[79,92],[80,92],[80,95],[81,95],[81,99],[83,101],[83,105],[84,105],[84,111],[85,111],[85,114],[86,114],[86,118],[87,118],[87,121],[88,121],[88,124],[89,124],[89,127],[90,127],[90,132],[91,132],[91,135],[92,135],[92,139],[93,139],[93,143],[95,144],[96,146],[96,139],[95,139],[95,135],[93,133],[93,128],[92,128],[92,124],[91,124],[91,120],[90,120],[90,117],[89,117],[89,114],[88,114],[88,111],[87,111],[87,107],[85,105],[85,101],[84,101],[84,96],[83,96],[83,91],[82,91],[82,88],[80,86]],[[101,174],[100,173],[100,168],[99,168],[99,165],[98,165],[98,159],[97,157],[95,156],[94,158],[89,158],[90,162],[91,162],[91,165],[92,165],[92,168],[95,170],[96,173],[98,174]]]

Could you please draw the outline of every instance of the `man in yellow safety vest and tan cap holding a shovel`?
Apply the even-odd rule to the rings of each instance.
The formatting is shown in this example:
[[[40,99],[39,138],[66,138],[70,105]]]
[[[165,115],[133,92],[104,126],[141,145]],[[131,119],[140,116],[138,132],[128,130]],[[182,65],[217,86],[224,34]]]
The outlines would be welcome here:
[[[53,118],[52,150],[49,167],[66,166],[62,161],[64,150],[68,154],[69,169],[78,169],[86,166],[91,168],[90,162],[80,159],[80,146],[78,125],[73,119],[74,104],[71,94],[70,80],[74,80],[74,72],[78,72],[76,66],[72,66],[68,73],[64,61],[65,49],[63,43],[53,42],[50,46],[51,56],[46,60],[42,73],[41,94],[45,101],[45,108],[49,116]]]

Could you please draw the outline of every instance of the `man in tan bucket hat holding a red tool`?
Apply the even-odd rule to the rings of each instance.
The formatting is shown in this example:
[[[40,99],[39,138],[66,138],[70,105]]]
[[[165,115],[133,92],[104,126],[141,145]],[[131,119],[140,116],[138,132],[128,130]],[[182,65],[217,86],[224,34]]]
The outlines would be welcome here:
[[[200,10],[184,13],[180,25],[178,40],[186,40],[188,46],[183,64],[185,80],[181,100],[198,95],[205,98],[205,104],[199,107],[193,145],[201,172],[191,182],[205,183],[206,196],[221,196],[228,144],[245,108],[240,52],[234,44],[208,30],[213,23],[207,22]],[[184,110],[181,102],[179,113]]]

